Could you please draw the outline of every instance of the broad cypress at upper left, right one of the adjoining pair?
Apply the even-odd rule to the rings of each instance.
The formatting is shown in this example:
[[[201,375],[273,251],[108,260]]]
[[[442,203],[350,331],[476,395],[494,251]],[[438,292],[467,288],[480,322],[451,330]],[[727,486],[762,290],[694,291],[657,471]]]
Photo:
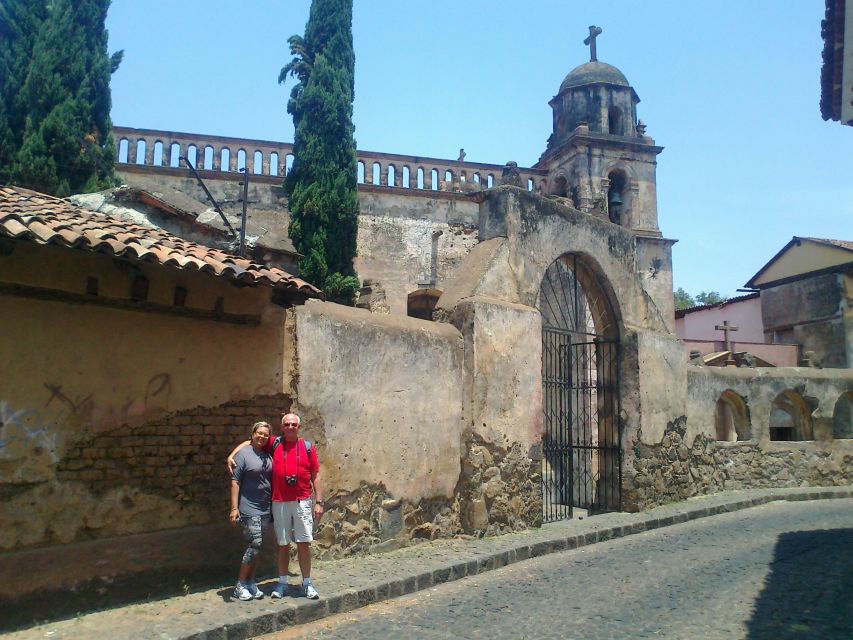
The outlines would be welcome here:
[[[58,196],[114,183],[110,75],[122,52],[107,53],[109,5],[48,3],[21,88],[26,120],[14,183]]]

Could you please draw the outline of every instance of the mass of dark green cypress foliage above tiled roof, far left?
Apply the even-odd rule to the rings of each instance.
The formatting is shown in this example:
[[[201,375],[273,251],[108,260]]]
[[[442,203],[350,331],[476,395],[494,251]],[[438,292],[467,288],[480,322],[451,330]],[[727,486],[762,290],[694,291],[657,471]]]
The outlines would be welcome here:
[[[110,0],[11,0],[0,28],[4,118],[10,149],[0,176],[37,191],[65,196],[114,182],[110,76],[121,52],[107,52]],[[4,128],[5,126],[5,128]],[[12,157],[7,157],[12,156]]]

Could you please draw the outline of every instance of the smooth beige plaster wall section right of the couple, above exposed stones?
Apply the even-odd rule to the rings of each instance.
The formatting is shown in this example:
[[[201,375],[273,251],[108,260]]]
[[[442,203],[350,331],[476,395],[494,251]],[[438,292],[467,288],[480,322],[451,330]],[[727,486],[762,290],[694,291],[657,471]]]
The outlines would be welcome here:
[[[332,303],[295,314],[296,406],[323,447],[329,486],[451,497],[462,457],[459,332]]]

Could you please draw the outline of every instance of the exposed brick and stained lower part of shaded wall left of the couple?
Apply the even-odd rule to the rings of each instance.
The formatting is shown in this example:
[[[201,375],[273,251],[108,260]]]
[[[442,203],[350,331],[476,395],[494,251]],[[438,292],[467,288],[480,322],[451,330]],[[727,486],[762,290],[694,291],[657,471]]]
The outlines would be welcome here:
[[[116,580],[156,590],[163,580],[176,588],[176,576],[233,570],[242,541],[225,525],[225,457],[252,424],[273,421],[290,405],[285,394],[255,396],[69,438],[52,479],[5,483],[0,610],[32,592],[61,598],[65,590],[94,589],[97,597]],[[141,537],[128,537],[134,534]],[[188,545],[208,553],[187,552]],[[219,560],[229,555],[230,562]]]

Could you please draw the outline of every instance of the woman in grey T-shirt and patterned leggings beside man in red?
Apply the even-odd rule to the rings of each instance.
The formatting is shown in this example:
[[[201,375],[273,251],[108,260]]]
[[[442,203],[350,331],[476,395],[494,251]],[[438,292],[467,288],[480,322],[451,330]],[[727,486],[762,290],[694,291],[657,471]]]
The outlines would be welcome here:
[[[272,458],[266,452],[270,439],[270,426],[256,422],[252,426],[251,447],[241,449],[234,456],[234,472],[231,477],[232,524],[240,524],[248,547],[243,554],[234,597],[239,600],[263,598],[264,593],[255,584],[255,568],[263,543],[264,530],[270,523],[270,477]]]

